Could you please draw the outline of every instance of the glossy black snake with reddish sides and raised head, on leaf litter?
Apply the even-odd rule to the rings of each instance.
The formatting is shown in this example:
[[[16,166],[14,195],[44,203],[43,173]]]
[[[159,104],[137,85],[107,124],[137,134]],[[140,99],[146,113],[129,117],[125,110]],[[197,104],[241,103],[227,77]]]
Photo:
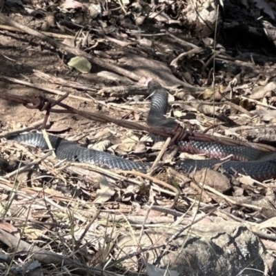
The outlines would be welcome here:
[[[152,95],[147,124],[165,130],[172,130],[177,124],[176,121],[164,117],[168,108],[168,92],[159,83],[155,82],[149,84],[149,92]],[[11,139],[43,149],[48,148],[43,135],[39,133],[17,135],[11,137]],[[138,170],[141,172],[146,172],[150,166],[149,163],[131,161],[116,155],[111,155],[108,152],[83,148],[71,141],[53,135],[49,135],[49,139],[52,147],[55,148],[58,159],[79,161],[110,169]],[[158,140],[159,138],[154,137],[154,139]],[[201,168],[213,168],[214,165],[221,164],[221,167],[230,174],[238,172],[243,175],[249,175],[259,181],[276,178],[276,152],[266,152],[245,146],[226,146],[218,142],[204,141],[180,141],[178,146],[181,150],[190,153],[205,153],[206,155],[220,159],[228,155],[233,155],[233,159],[235,159],[223,162],[217,159],[185,159],[177,161],[176,165],[181,170],[184,170],[184,172],[188,172],[194,168],[198,170]]]

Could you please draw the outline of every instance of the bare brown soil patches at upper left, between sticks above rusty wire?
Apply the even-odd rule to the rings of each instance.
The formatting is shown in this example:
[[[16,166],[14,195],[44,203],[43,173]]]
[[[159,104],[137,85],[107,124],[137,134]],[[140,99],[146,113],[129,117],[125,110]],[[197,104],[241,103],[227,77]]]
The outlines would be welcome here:
[[[80,75],[78,72],[68,70],[59,59],[57,53],[50,52],[50,50],[41,51],[37,43],[30,45],[28,39],[23,39],[22,34],[1,35],[1,75],[15,79],[23,78],[23,80],[32,81],[32,83],[36,83],[39,86],[56,89],[57,85],[49,83],[49,81],[43,81],[43,79],[32,74],[32,70],[41,70],[41,68],[45,69],[43,72],[68,80],[78,80],[81,83],[86,83],[90,87],[95,87],[95,89],[102,88],[105,85],[104,81],[95,76],[95,74]],[[1,88],[16,95],[29,95],[30,97],[43,95],[43,92],[35,88],[16,83],[8,83],[7,81],[1,81]],[[70,95],[85,96],[84,93],[73,89],[70,90],[70,88],[67,88],[66,91],[70,92]],[[97,106],[91,102],[83,103],[69,98],[66,99],[66,103],[75,108],[83,107],[83,110],[89,110],[91,112],[97,110]],[[2,124],[8,121],[10,121],[10,124],[16,124],[19,122],[17,118],[20,118],[21,124],[31,124],[43,118],[43,115],[38,110],[28,110],[23,106],[14,106],[12,103],[7,103],[7,101],[3,100],[1,100],[0,104]],[[57,115],[57,117],[59,116]],[[74,126],[75,122],[68,118],[66,124],[68,126]]]

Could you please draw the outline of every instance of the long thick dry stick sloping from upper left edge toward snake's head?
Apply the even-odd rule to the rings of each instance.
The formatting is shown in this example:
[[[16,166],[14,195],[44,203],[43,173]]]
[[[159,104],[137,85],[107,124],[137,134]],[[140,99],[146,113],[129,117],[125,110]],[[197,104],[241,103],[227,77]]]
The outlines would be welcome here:
[[[42,41],[49,43],[51,46],[53,46],[59,50],[65,50],[65,51],[71,52],[72,54],[75,54],[77,56],[86,57],[86,59],[90,60],[92,63],[97,64],[98,66],[101,66],[102,68],[112,70],[113,72],[117,72],[117,73],[124,75],[125,77],[129,77],[130,79],[133,79],[135,81],[139,81],[139,79],[142,77],[142,76],[139,77],[136,74],[129,72],[128,70],[125,70],[123,68],[115,66],[114,64],[106,63],[105,61],[102,61],[101,59],[98,59],[97,57],[93,57],[92,55],[89,55],[87,52],[83,52],[82,50],[72,48],[64,43],[56,41],[55,39],[51,39],[50,37],[47,37],[45,34],[41,34],[41,32],[37,32],[36,30],[33,30],[32,28],[28,28],[27,26],[24,26],[21,23],[14,21],[13,19],[10,19],[9,17],[6,17],[3,14],[1,14],[0,21],[4,24],[8,24],[15,28],[19,28],[20,30],[23,30],[23,32],[26,32],[27,34],[30,34],[33,37],[37,37],[37,38],[41,39]]]

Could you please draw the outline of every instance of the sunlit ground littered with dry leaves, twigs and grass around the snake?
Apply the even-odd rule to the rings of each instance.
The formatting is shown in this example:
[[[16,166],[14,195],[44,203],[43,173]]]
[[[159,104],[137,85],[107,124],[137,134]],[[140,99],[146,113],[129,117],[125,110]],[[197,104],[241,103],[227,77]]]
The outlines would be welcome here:
[[[95,3],[5,1],[0,93],[58,99],[68,92],[62,102],[77,110],[146,125],[145,82],[154,79],[170,92],[169,115],[190,121],[195,131],[275,146],[275,5],[248,3],[248,12],[226,1],[214,48],[217,3],[204,2],[115,1],[99,4],[101,12],[92,17]],[[208,14],[205,23],[195,8],[201,17]],[[258,21],[260,15],[268,21]],[[24,32],[24,26],[57,34],[63,43],[59,35],[66,35],[83,56],[104,63],[88,58],[92,68],[81,73],[68,66],[74,52]],[[135,85],[139,92],[130,90]],[[0,98],[0,152],[8,162],[3,166],[0,159],[1,275],[276,274],[275,181],[216,170],[184,175],[172,166],[173,150],[162,159],[168,166],[152,177],[120,174],[46,158],[5,139],[44,115]],[[146,132],[79,115],[51,113],[49,123],[52,134],[128,159],[154,161],[161,148]],[[21,162],[28,168],[19,173],[15,165]]]

